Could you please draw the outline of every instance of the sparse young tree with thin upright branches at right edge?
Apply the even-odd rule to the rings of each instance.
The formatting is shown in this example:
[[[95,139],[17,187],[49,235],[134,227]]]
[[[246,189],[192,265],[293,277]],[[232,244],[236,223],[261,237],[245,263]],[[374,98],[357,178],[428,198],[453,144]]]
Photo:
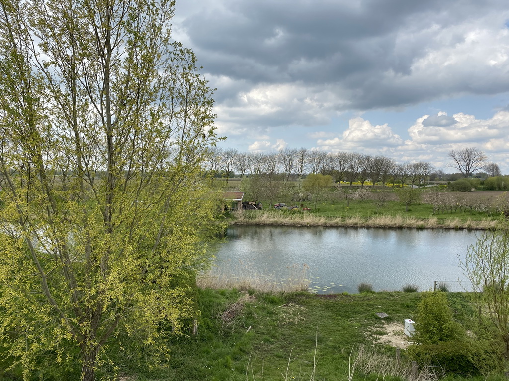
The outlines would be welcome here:
[[[493,337],[490,344],[500,366],[509,361],[509,227],[485,231],[468,248],[460,267],[465,271],[479,313],[482,338]]]

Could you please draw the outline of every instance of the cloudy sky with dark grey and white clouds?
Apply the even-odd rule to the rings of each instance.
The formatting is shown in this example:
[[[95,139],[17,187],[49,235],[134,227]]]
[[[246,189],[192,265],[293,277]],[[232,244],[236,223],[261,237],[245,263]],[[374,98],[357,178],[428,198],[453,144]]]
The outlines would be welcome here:
[[[177,0],[177,40],[215,92],[222,147],[384,154],[509,173],[506,0]]]

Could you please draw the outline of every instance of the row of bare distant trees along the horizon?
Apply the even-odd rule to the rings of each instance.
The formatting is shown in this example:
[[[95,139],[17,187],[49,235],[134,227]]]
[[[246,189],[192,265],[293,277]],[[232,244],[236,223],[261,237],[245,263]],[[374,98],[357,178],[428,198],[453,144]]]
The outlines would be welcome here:
[[[486,177],[499,176],[500,170],[495,163],[488,163],[486,154],[474,147],[451,150],[448,156],[451,167],[460,171],[460,177],[469,177],[484,170]],[[371,156],[358,152],[328,153],[319,149],[282,148],[278,152],[239,152],[236,149],[213,147],[209,151],[207,170],[224,177],[235,174],[245,175],[281,175],[281,180],[302,177],[304,174],[330,175],[336,182],[347,181],[352,184],[359,181],[364,185],[367,179],[373,182],[392,182],[416,184],[428,180],[432,174],[437,180],[455,180],[446,178],[442,169],[435,169],[429,162],[397,163],[392,158]]]

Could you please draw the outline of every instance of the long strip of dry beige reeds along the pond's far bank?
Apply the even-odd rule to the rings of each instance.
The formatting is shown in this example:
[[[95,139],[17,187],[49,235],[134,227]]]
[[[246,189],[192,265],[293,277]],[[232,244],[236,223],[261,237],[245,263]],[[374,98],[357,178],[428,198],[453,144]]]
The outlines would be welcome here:
[[[279,226],[328,226],[328,227],[369,227],[369,228],[421,228],[421,229],[494,229],[493,219],[462,220],[460,218],[439,220],[396,216],[372,217],[324,217],[315,214],[282,214],[273,211],[244,212],[236,214],[233,225],[279,225]]]

